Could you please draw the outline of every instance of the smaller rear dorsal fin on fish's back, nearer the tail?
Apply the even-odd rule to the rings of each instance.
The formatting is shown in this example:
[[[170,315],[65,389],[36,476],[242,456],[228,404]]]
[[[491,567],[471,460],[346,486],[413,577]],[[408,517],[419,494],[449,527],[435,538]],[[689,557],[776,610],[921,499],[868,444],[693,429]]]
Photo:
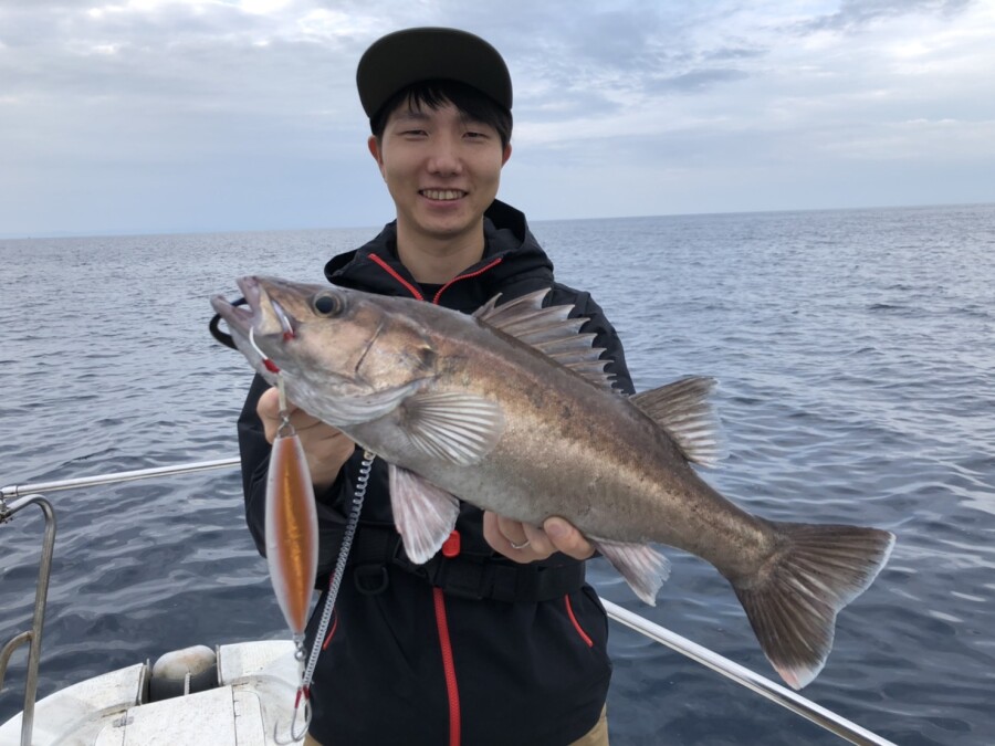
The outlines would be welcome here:
[[[688,461],[714,466],[725,458],[722,428],[705,398],[715,388],[714,378],[692,376],[629,397],[670,433]]]

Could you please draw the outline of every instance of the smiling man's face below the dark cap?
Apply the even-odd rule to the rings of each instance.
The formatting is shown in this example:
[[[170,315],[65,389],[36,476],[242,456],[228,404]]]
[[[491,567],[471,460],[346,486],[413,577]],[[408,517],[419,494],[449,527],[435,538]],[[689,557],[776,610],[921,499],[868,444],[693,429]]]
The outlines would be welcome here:
[[[511,146],[452,104],[412,111],[405,103],[380,141],[369,138],[369,151],[397,207],[398,237],[449,242],[483,235],[483,212],[498,195]]]

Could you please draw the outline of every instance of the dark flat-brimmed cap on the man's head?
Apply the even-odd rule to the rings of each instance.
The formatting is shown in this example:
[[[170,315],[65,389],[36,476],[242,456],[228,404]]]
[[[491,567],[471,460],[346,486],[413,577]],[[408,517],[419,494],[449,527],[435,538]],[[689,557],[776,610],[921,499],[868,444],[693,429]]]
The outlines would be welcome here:
[[[458,29],[395,31],[375,41],[359,59],[356,85],[370,119],[401,88],[421,81],[457,81],[511,111],[507,65],[480,36]]]

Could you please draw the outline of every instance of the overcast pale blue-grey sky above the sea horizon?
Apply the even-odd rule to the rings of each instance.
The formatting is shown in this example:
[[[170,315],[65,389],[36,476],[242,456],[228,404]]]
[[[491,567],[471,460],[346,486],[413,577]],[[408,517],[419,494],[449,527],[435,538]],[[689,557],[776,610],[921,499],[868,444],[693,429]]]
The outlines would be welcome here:
[[[995,201],[995,0],[0,0],[0,235],[381,224],[411,25],[505,56],[533,220]]]

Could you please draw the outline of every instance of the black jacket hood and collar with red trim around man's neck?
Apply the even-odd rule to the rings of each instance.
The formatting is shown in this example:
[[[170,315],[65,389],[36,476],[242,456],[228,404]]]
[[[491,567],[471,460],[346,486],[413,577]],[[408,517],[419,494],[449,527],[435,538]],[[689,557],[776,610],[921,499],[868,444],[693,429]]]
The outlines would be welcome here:
[[[397,221],[387,223],[379,235],[359,249],[333,258],[325,264],[325,276],[342,287],[413,296],[468,313],[499,293],[511,298],[552,286],[553,262],[532,235],[522,212],[494,200],[484,212],[484,239],[481,261],[449,281],[434,297],[423,297],[421,287],[397,258]]]

